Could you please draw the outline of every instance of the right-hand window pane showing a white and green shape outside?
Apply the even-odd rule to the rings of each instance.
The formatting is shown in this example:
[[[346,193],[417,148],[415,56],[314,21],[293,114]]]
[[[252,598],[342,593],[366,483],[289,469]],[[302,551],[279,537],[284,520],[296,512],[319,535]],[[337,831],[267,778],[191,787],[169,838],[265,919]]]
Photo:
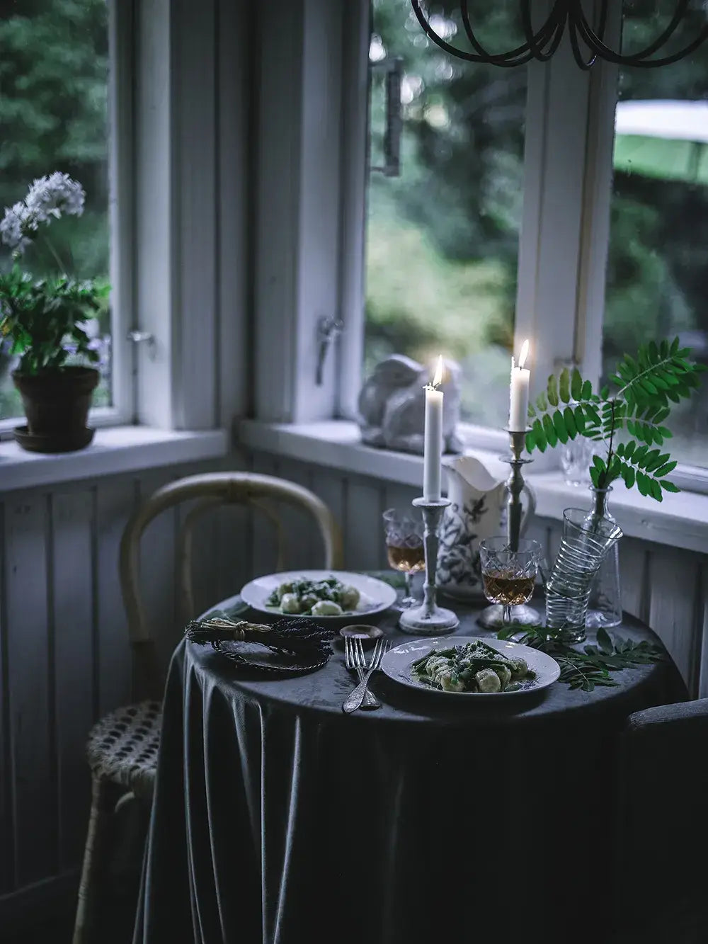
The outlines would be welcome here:
[[[673,5],[669,5],[673,8]],[[649,4],[650,8],[653,8]],[[667,15],[626,6],[626,50],[647,45]],[[650,12],[650,10],[649,10]],[[695,12],[671,48],[695,37]],[[679,335],[708,362],[708,43],[658,69],[624,69],[615,115],[615,182],[603,332],[603,373],[642,342]],[[675,459],[708,465],[708,385],[674,408]]]

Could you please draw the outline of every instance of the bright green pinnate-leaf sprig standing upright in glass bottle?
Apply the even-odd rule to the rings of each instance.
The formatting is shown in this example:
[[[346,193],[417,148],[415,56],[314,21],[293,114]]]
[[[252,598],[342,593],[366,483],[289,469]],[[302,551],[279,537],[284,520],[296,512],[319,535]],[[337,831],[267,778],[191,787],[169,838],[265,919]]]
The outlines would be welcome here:
[[[544,452],[583,436],[605,447],[604,456],[594,456],[590,466],[596,488],[621,478],[628,488],[636,486],[641,495],[657,501],[664,492],[678,492],[666,479],[676,462],[663,450],[671,437],[664,424],[672,404],[691,396],[706,369],[690,361],[690,353],[679,338],[650,341],[639,347],[636,357],[623,356],[598,394],[577,368],[551,374],[546,390],[529,407],[528,451]]]

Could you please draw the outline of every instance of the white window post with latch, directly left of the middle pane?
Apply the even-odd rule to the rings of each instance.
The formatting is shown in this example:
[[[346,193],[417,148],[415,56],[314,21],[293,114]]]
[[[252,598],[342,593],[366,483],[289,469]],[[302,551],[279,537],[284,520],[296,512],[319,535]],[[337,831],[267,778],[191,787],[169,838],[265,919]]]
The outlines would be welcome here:
[[[278,0],[259,11],[255,278],[256,413],[334,413],[331,344],[315,382],[318,325],[339,317],[342,28],[345,4]]]

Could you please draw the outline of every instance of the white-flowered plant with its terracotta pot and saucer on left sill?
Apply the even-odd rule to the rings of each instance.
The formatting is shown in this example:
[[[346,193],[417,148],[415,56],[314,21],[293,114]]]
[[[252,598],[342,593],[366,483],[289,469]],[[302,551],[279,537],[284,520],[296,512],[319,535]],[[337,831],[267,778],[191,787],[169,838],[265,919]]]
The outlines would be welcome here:
[[[80,216],[85,195],[76,180],[56,172],[35,180],[0,223],[0,239],[12,251],[11,269],[0,272],[0,334],[10,354],[20,355],[12,379],[27,420],[15,438],[34,452],[70,452],[93,439],[86,422],[99,354],[90,323],[109,286],[68,276],[45,232],[62,214]],[[27,247],[38,240],[56,261],[57,275],[35,278],[21,265]]]

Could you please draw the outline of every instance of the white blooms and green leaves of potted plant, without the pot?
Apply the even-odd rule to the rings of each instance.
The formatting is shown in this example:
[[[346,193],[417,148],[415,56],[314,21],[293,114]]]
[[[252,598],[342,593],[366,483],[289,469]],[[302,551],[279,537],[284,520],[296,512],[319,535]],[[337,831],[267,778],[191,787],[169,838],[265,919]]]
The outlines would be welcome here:
[[[90,320],[101,310],[109,286],[99,279],[79,281],[63,271],[43,230],[62,213],[78,216],[85,194],[76,180],[55,173],[35,180],[24,201],[5,212],[0,238],[12,249],[12,267],[0,273],[0,336],[10,354],[21,355],[19,371],[38,374],[71,363],[94,363]],[[34,278],[20,264],[25,248],[42,238],[59,266],[59,275]]]

